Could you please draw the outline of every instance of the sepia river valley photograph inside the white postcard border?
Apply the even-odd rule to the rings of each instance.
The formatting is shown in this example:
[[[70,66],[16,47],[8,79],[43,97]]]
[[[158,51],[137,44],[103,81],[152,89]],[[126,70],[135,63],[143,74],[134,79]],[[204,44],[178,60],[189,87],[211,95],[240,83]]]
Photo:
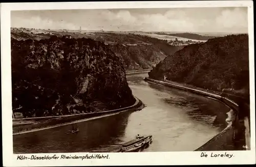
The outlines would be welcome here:
[[[11,10],[10,151],[255,150],[248,10]]]

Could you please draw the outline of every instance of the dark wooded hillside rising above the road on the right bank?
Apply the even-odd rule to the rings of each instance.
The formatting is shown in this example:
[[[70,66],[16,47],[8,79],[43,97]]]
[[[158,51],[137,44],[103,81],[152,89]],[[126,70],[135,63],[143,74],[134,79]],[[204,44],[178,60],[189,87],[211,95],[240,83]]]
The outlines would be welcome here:
[[[191,44],[169,55],[149,76],[221,91],[243,90],[249,97],[248,35],[230,35]]]

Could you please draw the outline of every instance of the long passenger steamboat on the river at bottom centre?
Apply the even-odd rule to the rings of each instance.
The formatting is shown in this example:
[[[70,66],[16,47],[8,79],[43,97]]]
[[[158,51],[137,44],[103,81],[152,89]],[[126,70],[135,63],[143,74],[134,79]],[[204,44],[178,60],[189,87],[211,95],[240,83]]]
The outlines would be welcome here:
[[[152,143],[152,135],[140,136],[136,135],[135,139],[123,144],[121,146],[120,152],[140,152],[146,149]]]

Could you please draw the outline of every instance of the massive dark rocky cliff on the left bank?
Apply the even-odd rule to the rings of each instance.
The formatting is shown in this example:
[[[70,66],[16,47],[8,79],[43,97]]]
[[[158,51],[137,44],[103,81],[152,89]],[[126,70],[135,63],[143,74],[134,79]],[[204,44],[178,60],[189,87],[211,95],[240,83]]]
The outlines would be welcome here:
[[[121,61],[92,39],[11,41],[13,109],[25,117],[88,113],[133,104]]]

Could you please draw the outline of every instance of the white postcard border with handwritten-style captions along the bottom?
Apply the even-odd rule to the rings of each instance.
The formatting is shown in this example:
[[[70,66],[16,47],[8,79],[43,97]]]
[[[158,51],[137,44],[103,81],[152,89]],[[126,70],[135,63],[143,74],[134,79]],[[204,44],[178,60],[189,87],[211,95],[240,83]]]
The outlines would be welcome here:
[[[107,153],[110,159],[61,159],[61,160],[17,160],[13,154],[12,102],[11,102],[11,36],[10,11],[53,9],[113,9],[113,8],[191,8],[191,7],[249,7],[249,70],[250,70],[250,116],[251,150],[206,152],[145,152]],[[254,104],[254,34],[252,1],[183,1],[183,2],[90,2],[90,3],[4,3],[1,4],[1,63],[2,63],[2,129],[4,166],[63,166],[63,165],[153,165],[153,164],[253,164],[255,163],[255,104]],[[211,158],[211,153],[233,154],[234,158]],[[56,155],[83,156],[92,153],[60,153]],[[20,154],[23,155],[23,154]],[[26,154],[26,156],[52,156],[54,154]],[[106,154],[105,154],[106,155]]]

